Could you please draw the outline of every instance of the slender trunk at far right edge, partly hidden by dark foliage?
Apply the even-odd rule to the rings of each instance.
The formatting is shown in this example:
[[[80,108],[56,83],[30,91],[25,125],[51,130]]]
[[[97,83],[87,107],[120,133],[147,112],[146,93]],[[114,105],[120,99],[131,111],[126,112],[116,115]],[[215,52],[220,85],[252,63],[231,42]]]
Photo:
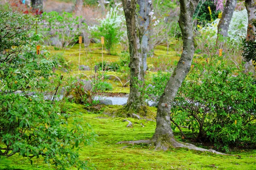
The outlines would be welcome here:
[[[256,2],[255,0],[245,0],[244,3],[246,10],[247,10],[247,15],[248,15],[248,26],[247,26],[247,35],[246,35],[246,40],[247,41],[255,41],[255,26],[253,25],[253,22],[256,21],[255,17],[255,6]],[[244,59],[245,61],[245,59]],[[245,62],[244,64],[244,73],[248,72],[255,72],[255,68],[253,66],[252,60]]]

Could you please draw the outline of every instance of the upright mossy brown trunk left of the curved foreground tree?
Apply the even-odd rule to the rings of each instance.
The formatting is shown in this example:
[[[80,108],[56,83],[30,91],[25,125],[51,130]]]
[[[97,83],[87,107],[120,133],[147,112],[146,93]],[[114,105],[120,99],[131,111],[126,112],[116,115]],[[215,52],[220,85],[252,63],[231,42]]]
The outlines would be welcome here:
[[[143,71],[143,31],[144,28],[139,25],[137,19],[137,0],[122,0],[122,5],[125,11],[125,20],[127,27],[127,35],[130,51],[130,95],[125,109],[138,110],[145,105],[143,95],[136,87],[143,87],[144,85],[144,71]],[[140,84],[137,80],[143,82]]]

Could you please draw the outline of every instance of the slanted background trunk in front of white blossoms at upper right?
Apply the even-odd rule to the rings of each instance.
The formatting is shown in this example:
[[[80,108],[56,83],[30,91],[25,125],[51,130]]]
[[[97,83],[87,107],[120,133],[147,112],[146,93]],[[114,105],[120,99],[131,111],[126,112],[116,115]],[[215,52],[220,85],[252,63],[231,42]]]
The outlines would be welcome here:
[[[216,45],[220,41],[219,39],[221,37],[227,37],[228,27],[230,25],[233,12],[236,8],[236,3],[237,3],[237,0],[227,0],[226,2],[226,6],[224,8],[221,20],[218,23],[218,34],[217,34]]]

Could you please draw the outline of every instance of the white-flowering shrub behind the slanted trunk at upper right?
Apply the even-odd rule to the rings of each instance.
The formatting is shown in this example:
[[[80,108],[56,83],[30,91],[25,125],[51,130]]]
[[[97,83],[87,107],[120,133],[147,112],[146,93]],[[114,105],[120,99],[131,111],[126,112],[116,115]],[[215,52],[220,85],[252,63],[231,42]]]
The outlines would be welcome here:
[[[212,23],[206,24],[200,29],[201,34],[208,35],[209,38],[217,38],[218,23],[220,19],[216,19]],[[230,40],[240,42],[245,38],[248,25],[248,16],[246,9],[242,11],[234,11],[233,17],[228,28],[228,37]],[[198,26],[200,28],[200,26]]]

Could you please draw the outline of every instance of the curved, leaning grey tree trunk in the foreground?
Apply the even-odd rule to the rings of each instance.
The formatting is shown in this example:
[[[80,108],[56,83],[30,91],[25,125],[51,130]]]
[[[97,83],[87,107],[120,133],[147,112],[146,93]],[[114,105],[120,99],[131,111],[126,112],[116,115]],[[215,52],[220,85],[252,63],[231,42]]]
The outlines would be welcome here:
[[[157,127],[152,137],[156,149],[166,150],[170,146],[179,147],[179,145],[182,145],[176,142],[173,136],[170,123],[170,111],[177,91],[191,67],[195,51],[193,41],[193,13],[198,1],[199,0],[180,0],[179,26],[183,39],[183,53],[159,100],[157,108]]]

